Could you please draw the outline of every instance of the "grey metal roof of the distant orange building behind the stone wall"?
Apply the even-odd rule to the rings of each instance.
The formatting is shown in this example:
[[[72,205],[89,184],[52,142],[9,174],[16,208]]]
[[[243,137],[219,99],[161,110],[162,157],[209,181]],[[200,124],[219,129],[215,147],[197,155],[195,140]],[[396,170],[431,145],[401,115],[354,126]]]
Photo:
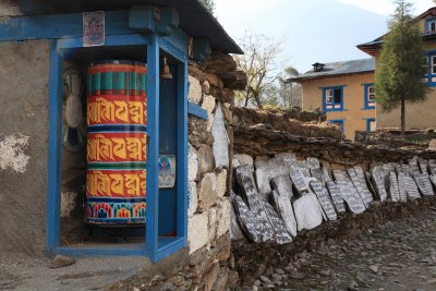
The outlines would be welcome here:
[[[374,59],[352,60],[344,62],[325,63],[323,71],[315,72],[311,70],[302,75],[291,77],[289,81],[302,81],[308,78],[320,78],[336,75],[348,75],[372,72],[375,70]]]

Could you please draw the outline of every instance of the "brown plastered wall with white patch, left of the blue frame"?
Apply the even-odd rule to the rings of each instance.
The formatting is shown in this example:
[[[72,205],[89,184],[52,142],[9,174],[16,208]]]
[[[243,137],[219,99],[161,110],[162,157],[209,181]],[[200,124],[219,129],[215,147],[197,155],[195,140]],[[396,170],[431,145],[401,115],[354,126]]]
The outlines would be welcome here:
[[[49,43],[0,44],[0,252],[43,253]]]

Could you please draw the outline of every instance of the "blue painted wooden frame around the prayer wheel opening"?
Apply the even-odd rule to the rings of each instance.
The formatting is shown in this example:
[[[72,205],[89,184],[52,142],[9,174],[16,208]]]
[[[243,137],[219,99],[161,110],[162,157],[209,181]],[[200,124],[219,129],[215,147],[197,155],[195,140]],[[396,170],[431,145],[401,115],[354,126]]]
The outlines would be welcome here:
[[[47,195],[47,251],[69,255],[147,255],[156,262],[187,244],[187,35],[177,29],[171,36],[140,34],[129,27],[125,11],[106,14],[105,47],[144,46],[147,52],[147,214],[146,243],[140,247],[62,247],[61,207],[61,124],[63,53],[83,47],[82,17],[78,14],[14,17],[0,24],[0,41],[52,39],[49,75],[49,157]],[[27,27],[23,29],[23,27]],[[56,29],[53,31],[53,27]],[[104,47],[101,47],[104,49]],[[98,49],[98,48],[97,48]],[[175,237],[159,238],[159,57],[164,50],[177,64],[177,213]],[[164,219],[164,216],[161,216]]]

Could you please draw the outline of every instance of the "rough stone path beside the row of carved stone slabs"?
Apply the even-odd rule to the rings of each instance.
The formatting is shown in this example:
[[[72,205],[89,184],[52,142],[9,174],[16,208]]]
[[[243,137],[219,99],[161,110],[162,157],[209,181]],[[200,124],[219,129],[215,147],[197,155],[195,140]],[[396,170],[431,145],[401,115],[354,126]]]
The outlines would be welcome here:
[[[436,208],[330,239],[283,268],[268,268],[254,290],[436,290]]]

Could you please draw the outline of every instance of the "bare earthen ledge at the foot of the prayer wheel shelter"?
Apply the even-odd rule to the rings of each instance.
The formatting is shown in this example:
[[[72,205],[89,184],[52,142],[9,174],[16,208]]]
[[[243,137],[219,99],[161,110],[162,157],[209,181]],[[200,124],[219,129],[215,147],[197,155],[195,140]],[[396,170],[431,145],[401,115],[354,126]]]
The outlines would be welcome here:
[[[100,290],[150,264],[143,257],[89,257],[51,269],[50,263],[25,254],[0,254],[0,290]]]

